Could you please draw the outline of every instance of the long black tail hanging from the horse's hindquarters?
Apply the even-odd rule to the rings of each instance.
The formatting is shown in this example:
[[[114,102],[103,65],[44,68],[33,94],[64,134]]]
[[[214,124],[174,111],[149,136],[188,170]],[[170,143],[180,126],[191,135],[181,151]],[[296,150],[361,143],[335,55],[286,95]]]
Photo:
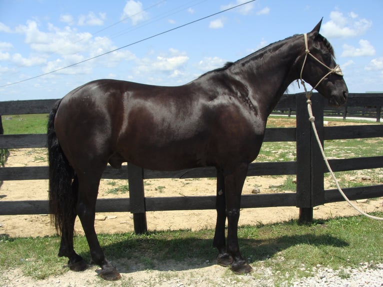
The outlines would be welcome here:
[[[49,211],[58,233],[73,228],[71,218],[75,217],[77,201],[77,184],[72,184],[74,170],[66,159],[56,132],[54,118],[61,100],[57,101],[49,113],[47,128],[47,146],[49,161]],[[69,232],[70,233],[70,232]]]

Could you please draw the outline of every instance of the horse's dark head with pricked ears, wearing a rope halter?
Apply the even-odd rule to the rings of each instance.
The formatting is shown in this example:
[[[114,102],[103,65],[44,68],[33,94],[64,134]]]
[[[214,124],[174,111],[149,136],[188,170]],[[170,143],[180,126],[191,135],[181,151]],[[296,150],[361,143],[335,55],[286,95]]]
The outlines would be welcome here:
[[[339,106],[346,101],[348,89],[343,73],[334,60],[332,46],[319,34],[321,22],[322,20],[311,32],[303,35],[305,54],[300,69],[300,80],[307,81],[312,89],[325,96],[331,105]]]

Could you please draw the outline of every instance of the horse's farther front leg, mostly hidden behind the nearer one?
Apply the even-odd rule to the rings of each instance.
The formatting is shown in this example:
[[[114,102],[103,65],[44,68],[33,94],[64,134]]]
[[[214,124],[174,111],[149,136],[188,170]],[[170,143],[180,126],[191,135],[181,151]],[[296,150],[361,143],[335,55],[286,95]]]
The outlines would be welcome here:
[[[224,177],[220,170],[217,169],[217,194],[215,208],[217,210],[217,221],[215,224],[215,233],[213,239],[213,246],[218,249],[217,262],[221,266],[230,266],[232,257],[226,251],[225,241],[225,223],[226,223],[226,200]]]

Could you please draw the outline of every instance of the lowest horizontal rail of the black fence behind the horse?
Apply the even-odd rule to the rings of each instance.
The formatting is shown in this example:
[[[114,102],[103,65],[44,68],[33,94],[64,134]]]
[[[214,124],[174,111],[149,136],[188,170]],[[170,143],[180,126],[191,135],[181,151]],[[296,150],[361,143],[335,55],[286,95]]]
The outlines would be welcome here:
[[[344,188],[350,200],[383,196],[383,184]],[[337,189],[324,190],[325,203],[344,201]],[[146,197],[146,211],[215,209],[215,196]],[[244,194],[241,208],[295,206],[296,195],[290,193]],[[96,212],[130,212],[129,198],[97,199]],[[48,214],[47,200],[1,201],[0,215]]]

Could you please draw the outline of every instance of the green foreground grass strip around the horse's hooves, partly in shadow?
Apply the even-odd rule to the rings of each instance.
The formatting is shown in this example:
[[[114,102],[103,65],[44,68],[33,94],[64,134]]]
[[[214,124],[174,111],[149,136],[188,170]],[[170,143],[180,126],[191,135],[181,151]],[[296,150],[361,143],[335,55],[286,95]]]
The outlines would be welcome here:
[[[383,212],[374,214],[383,216]],[[278,282],[292,280],[296,276],[309,276],[317,264],[337,270],[357,267],[360,262],[383,262],[382,224],[362,216],[316,220],[310,225],[299,225],[291,220],[241,226],[238,237],[242,254],[255,269],[251,276],[263,278],[264,274],[256,270],[267,267],[278,285]],[[98,236],[106,257],[122,272],[126,272],[127,264],[136,266],[136,270],[161,270],[163,265],[173,263],[185,264],[183,268],[186,269],[197,268],[207,260],[215,264],[216,250],[211,246],[212,237],[211,229]],[[74,241],[76,251],[85,260],[90,260],[85,237],[75,236]],[[1,270],[18,267],[24,275],[36,279],[60,275],[68,268],[62,267],[66,258],[56,255],[58,247],[57,236],[0,237]],[[347,277],[346,272],[341,275]]]

